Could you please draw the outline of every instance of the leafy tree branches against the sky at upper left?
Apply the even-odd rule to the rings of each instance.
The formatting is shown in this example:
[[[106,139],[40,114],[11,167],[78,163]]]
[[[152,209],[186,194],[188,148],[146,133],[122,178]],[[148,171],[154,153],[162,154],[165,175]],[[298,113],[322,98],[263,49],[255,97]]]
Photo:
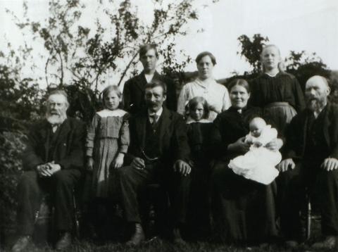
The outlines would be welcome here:
[[[49,18],[43,22],[27,14],[27,3],[23,4],[23,20],[7,12],[24,34],[43,44],[45,55],[39,61],[44,61],[47,89],[68,91],[68,86],[73,85],[68,95],[71,100],[80,101],[80,106],[72,104],[70,115],[88,121],[98,109],[99,88],[106,84],[107,75],[113,73],[113,84],[120,85],[125,77],[137,73],[141,44],[158,44],[166,75],[180,72],[191,61],[183,51],[179,52],[182,60],[177,60],[176,42],[189,31],[187,23],[198,18],[192,3],[180,0],[166,5],[161,0],[153,1],[154,11],[148,13],[151,23],[139,18],[137,6],[130,0],[50,0]],[[96,16],[90,28],[84,25],[86,8],[92,8]],[[35,53],[33,47],[31,56]]]

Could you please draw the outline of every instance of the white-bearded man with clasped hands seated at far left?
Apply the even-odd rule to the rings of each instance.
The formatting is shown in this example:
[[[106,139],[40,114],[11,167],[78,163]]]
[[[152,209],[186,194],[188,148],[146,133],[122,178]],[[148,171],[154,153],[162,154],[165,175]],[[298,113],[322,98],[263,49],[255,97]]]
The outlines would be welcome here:
[[[56,249],[71,244],[73,188],[80,179],[84,160],[85,125],[67,118],[67,94],[51,92],[46,118],[32,126],[23,153],[25,172],[18,183],[18,234],[12,251],[25,251],[32,241],[35,213],[42,194],[48,192],[55,208]]]

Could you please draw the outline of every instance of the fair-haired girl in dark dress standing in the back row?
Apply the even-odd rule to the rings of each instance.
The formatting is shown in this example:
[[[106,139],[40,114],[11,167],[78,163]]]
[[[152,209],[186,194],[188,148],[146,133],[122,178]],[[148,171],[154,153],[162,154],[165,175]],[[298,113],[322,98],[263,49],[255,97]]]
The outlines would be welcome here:
[[[264,108],[273,115],[278,132],[284,132],[294,115],[305,108],[299,82],[296,77],[280,68],[281,61],[277,46],[270,44],[263,48],[263,74],[250,83],[249,100],[251,106]]]

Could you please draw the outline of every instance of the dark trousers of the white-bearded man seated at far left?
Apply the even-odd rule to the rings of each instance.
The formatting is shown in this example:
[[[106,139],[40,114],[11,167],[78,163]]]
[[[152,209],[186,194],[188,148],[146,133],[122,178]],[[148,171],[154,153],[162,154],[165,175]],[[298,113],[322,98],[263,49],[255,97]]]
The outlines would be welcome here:
[[[32,235],[35,212],[39,210],[44,192],[51,195],[55,207],[55,228],[70,231],[73,228],[73,189],[81,177],[80,170],[60,170],[51,177],[39,177],[35,171],[23,173],[18,184],[18,232]]]

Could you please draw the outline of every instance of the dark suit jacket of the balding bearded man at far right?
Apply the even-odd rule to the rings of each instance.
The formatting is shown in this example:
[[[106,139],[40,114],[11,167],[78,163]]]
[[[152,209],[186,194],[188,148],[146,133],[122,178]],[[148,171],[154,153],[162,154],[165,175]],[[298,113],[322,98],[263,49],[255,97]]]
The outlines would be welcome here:
[[[311,111],[305,109],[290,122],[287,130],[286,158],[295,158],[296,160],[303,158],[310,113]],[[338,159],[338,106],[335,104],[327,103],[323,133],[330,150],[329,156]]]

